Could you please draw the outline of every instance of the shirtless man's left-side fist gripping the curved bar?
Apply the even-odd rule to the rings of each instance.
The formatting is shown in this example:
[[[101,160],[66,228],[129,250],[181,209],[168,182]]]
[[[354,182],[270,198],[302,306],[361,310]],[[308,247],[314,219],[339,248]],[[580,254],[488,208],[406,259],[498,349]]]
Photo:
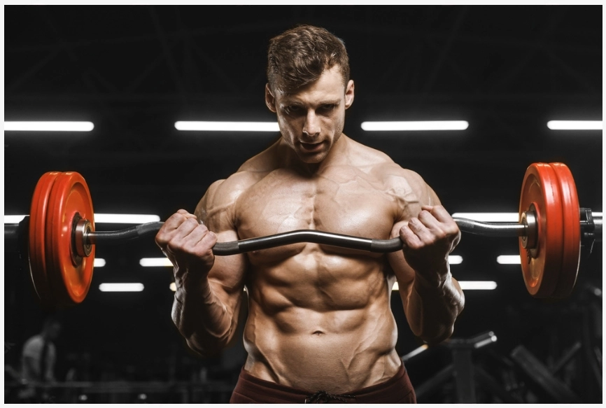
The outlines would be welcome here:
[[[173,214],[155,238],[175,269],[175,283],[180,288],[185,280],[206,277],[215,262],[213,246],[217,236],[196,216],[185,210]]]

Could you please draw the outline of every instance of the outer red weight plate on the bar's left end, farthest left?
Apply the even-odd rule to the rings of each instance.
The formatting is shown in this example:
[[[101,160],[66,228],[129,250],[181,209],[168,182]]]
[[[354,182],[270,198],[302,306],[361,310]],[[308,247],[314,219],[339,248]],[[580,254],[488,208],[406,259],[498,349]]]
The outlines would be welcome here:
[[[34,189],[34,195],[31,198],[29,209],[29,232],[28,232],[28,251],[29,251],[29,272],[31,274],[31,283],[40,300],[48,301],[52,298],[48,287],[48,277],[46,275],[46,253],[48,248],[44,241],[46,213],[48,209],[48,197],[52,185],[55,183],[58,171],[49,171],[41,176]]]

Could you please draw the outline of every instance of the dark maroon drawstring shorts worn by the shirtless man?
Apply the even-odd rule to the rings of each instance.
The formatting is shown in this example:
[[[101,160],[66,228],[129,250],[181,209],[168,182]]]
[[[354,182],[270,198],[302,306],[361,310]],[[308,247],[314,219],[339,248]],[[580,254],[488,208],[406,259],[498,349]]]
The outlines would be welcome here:
[[[324,391],[304,391],[253,377],[244,368],[232,393],[232,404],[296,404],[324,402],[335,404],[416,404],[416,395],[410,384],[404,365],[387,381],[344,394],[329,394]]]

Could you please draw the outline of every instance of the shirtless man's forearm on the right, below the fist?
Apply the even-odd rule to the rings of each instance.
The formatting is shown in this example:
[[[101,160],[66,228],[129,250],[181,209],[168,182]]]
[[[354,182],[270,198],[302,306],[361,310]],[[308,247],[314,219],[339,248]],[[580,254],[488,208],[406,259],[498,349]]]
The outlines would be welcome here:
[[[452,335],[454,323],[463,311],[464,304],[463,291],[450,272],[434,282],[416,273],[406,311],[410,328],[414,335],[425,342],[442,342]]]

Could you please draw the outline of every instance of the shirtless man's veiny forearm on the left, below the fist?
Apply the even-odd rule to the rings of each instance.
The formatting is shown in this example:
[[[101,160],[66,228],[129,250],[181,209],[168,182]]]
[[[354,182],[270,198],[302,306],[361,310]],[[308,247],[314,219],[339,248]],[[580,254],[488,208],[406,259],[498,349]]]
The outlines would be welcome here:
[[[236,327],[233,315],[206,278],[176,290],[173,321],[188,345],[200,354],[216,353],[230,342]]]

